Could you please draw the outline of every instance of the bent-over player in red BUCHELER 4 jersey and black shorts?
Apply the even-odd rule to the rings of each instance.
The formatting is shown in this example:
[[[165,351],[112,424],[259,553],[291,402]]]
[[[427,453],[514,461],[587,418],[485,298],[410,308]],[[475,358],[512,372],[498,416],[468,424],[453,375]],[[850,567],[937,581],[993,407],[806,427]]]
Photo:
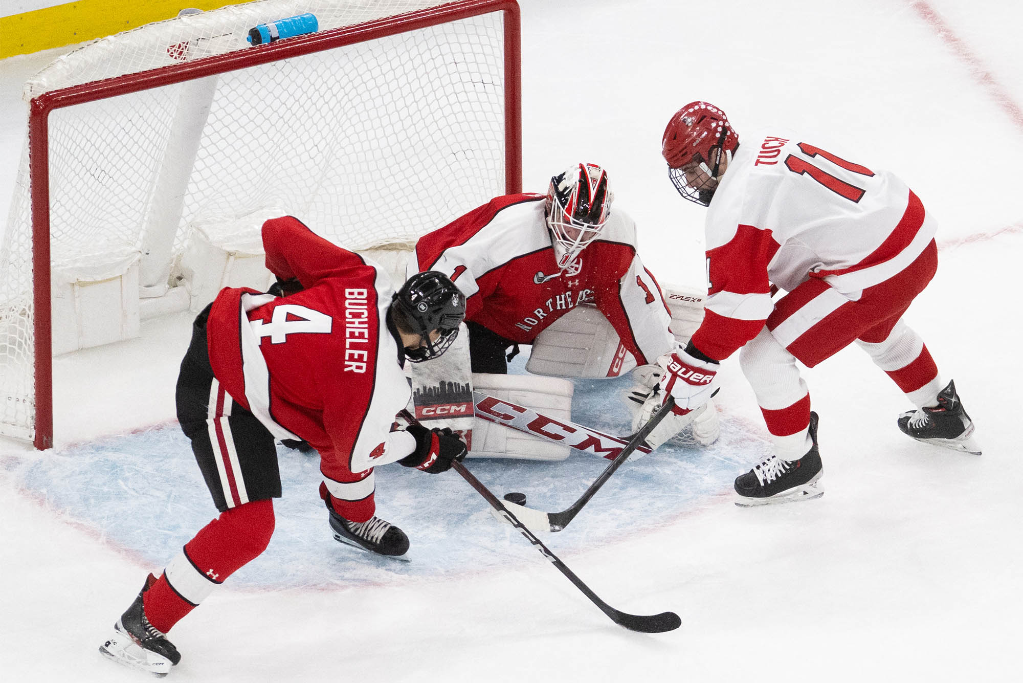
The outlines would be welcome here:
[[[451,281],[420,273],[395,293],[372,263],[292,217],[267,221],[263,244],[295,293],[221,290],[195,319],[178,377],[178,420],[220,515],[149,575],[100,646],[152,673],[180,659],[167,631],[269,543],[281,495],[275,440],[319,452],[333,537],[385,555],[409,543],[374,515],[373,468],[435,473],[465,456],[450,429],[393,427],[410,398],[404,361],[436,358],[457,334],[464,299]]]

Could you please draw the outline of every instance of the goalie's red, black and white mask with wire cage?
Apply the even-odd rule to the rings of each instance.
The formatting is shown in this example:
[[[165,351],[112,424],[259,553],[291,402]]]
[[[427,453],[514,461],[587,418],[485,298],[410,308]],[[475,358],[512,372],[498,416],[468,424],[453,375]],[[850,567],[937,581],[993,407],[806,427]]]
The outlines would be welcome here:
[[[577,164],[550,179],[547,227],[553,237],[558,268],[566,275],[579,274],[579,253],[601,234],[614,197],[608,187],[608,174],[595,164]]]

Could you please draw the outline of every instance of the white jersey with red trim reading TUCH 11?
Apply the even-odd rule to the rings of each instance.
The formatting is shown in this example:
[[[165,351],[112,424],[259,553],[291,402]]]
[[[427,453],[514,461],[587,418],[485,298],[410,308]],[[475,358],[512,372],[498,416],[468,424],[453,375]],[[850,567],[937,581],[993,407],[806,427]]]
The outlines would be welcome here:
[[[707,210],[706,316],[693,344],[724,359],[756,336],[770,285],[810,277],[855,299],[920,256],[936,231],[905,183],[799,137],[746,138]]]

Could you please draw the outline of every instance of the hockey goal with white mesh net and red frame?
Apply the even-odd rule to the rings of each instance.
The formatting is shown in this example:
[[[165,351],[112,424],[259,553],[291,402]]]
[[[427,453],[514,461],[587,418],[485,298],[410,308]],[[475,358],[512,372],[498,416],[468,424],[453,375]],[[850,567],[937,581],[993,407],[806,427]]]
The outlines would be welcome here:
[[[246,40],[305,12],[317,32]],[[57,286],[130,271],[125,297],[137,282],[157,300],[187,285],[198,233],[291,214],[348,248],[408,244],[521,189],[515,0],[232,5],[85,45],[25,97],[0,245],[0,434],[38,448],[52,446]]]

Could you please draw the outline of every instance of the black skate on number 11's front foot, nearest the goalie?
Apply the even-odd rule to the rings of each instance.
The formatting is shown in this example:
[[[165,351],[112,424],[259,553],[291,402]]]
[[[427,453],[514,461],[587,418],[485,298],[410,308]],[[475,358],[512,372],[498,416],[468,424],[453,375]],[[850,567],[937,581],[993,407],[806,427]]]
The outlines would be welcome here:
[[[753,469],[736,477],[740,507],[811,500],[825,495],[820,486],[824,468],[817,450],[817,414],[810,413],[810,440],[813,446],[799,460],[782,460],[771,455]]]

